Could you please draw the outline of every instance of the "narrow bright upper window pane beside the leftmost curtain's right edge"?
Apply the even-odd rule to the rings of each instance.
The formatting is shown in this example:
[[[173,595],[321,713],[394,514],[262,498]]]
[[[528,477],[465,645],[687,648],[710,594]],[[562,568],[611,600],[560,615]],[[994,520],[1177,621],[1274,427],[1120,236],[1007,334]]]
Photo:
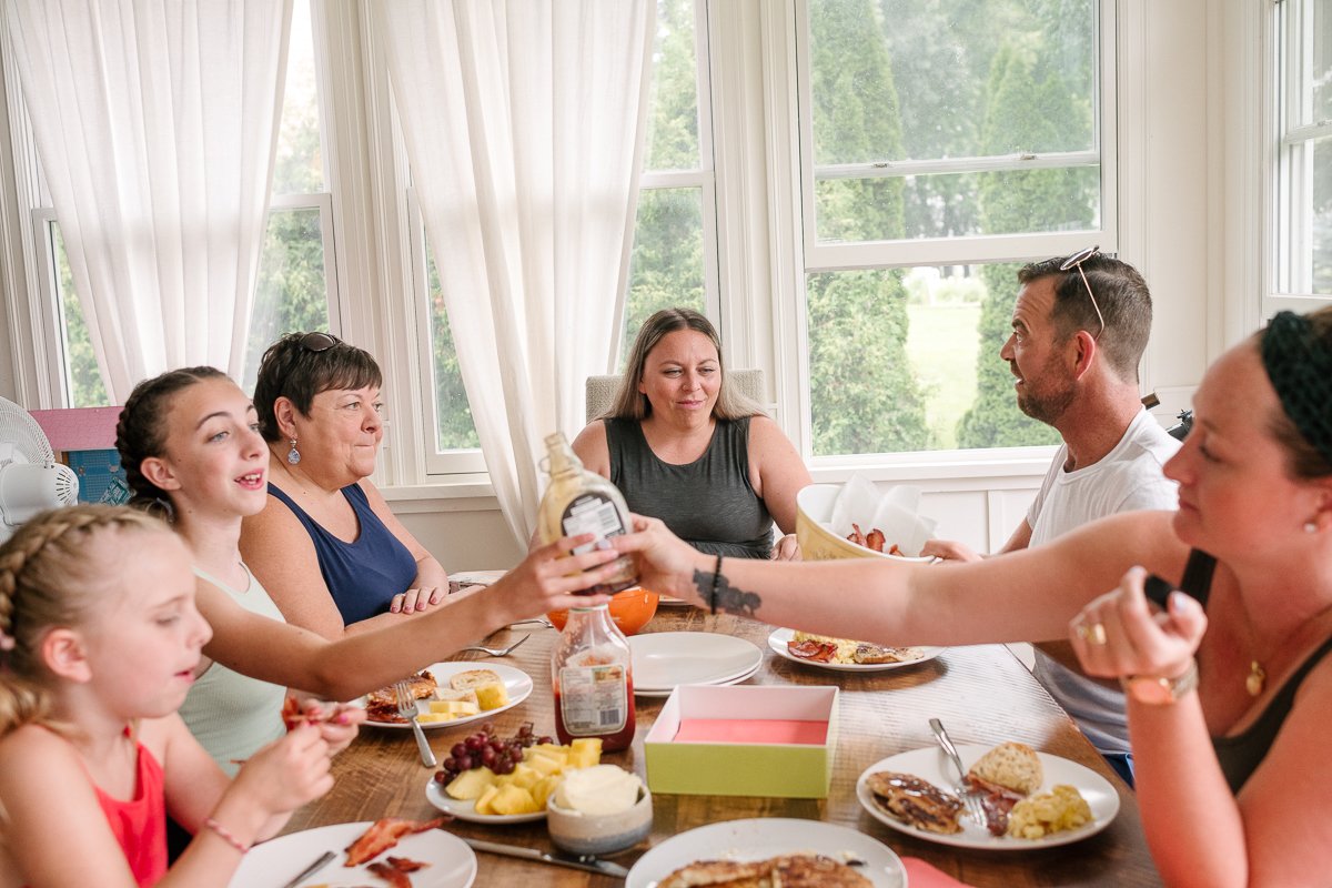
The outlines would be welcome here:
[[[320,145],[320,105],[314,77],[314,36],[309,0],[292,7],[292,37],[286,56],[286,92],[277,133],[274,194],[312,194],[324,189]]]

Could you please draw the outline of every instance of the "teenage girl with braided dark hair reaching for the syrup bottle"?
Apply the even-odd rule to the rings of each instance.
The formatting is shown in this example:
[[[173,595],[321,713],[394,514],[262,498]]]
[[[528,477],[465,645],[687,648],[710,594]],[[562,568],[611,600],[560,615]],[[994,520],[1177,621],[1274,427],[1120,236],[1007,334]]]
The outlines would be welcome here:
[[[200,666],[206,671],[184,715],[224,762],[245,758],[246,747],[281,731],[281,687],[348,700],[509,623],[607,600],[571,592],[602,582],[614,568],[599,566],[614,555],[561,558],[591,539],[570,538],[534,550],[488,588],[452,595],[445,606],[404,615],[401,623],[329,642],[282,622],[241,560],[241,518],[265,506],[269,449],[253,403],[234,382],[212,367],[172,370],[141,382],[121,411],[116,446],[136,499],[168,505],[173,527],[193,553],[198,610],[213,636]],[[210,676],[225,676],[229,690],[214,694]],[[220,707],[229,707],[225,715]],[[230,730],[238,724],[254,727]]]

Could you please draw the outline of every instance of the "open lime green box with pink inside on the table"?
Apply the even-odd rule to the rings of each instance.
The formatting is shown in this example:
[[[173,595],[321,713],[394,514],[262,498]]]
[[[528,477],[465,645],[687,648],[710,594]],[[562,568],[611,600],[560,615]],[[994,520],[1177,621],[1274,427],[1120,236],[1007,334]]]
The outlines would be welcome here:
[[[643,740],[653,792],[827,797],[836,687],[677,687]]]

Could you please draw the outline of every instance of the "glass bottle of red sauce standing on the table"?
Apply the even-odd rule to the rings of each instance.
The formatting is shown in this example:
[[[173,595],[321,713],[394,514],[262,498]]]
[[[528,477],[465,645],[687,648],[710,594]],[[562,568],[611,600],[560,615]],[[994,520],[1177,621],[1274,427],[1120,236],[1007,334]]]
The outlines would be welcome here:
[[[606,604],[573,607],[550,656],[555,736],[601,738],[605,752],[634,742],[634,676],[629,642]]]

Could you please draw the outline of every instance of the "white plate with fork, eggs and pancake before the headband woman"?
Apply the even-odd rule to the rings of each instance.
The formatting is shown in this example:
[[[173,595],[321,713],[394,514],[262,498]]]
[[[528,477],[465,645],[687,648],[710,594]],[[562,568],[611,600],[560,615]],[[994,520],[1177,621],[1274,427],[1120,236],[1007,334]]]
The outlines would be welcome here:
[[[983,756],[992,747],[987,746],[958,744],[958,756],[962,759],[962,764],[970,768],[976,759]],[[927,841],[958,845],[959,848],[1026,851],[1030,848],[1067,845],[1072,841],[1080,841],[1087,836],[1094,836],[1110,825],[1110,821],[1115,819],[1116,813],[1119,813],[1119,793],[1115,792],[1115,787],[1110,785],[1110,781],[1106,780],[1106,777],[1100,776],[1091,768],[1080,766],[1076,762],[1070,762],[1068,759],[1062,759],[1058,755],[1048,755],[1046,752],[1038,752],[1036,755],[1040,756],[1040,767],[1043,768],[1046,776],[1040,788],[1036,789],[1036,793],[1050,792],[1050,789],[1059,783],[1066,783],[1076,788],[1082,797],[1087,800],[1088,807],[1091,807],[1091,823],[1079,827],[1078,829],[1056,832],[1043,839],[1010,839],[1008,836],[990,835],[988,829],[967,816],[962,817],[962,832],[954,833],[916,829],[915,827],[898,820],[886,809],[880,808],[874,800],[874,793],[870,792],[867,783],[870,775],[875,771],[912,774],[922,780],[932,783],[940,789],[952,792],[952,787],[958,781],[958,777],[954,774],[956,768],[952,767],[952,763],[943,754],[943,750],[936,746],[902,752],[899,755],[888,756],[882,762],[875,762],[866,768],[864,772],[860,774],[860,777],[855,781],[855,797],[860,800],[864,809],[874,815],[875,819],[899,832],[906,832],[916,839],[924,839]]]

